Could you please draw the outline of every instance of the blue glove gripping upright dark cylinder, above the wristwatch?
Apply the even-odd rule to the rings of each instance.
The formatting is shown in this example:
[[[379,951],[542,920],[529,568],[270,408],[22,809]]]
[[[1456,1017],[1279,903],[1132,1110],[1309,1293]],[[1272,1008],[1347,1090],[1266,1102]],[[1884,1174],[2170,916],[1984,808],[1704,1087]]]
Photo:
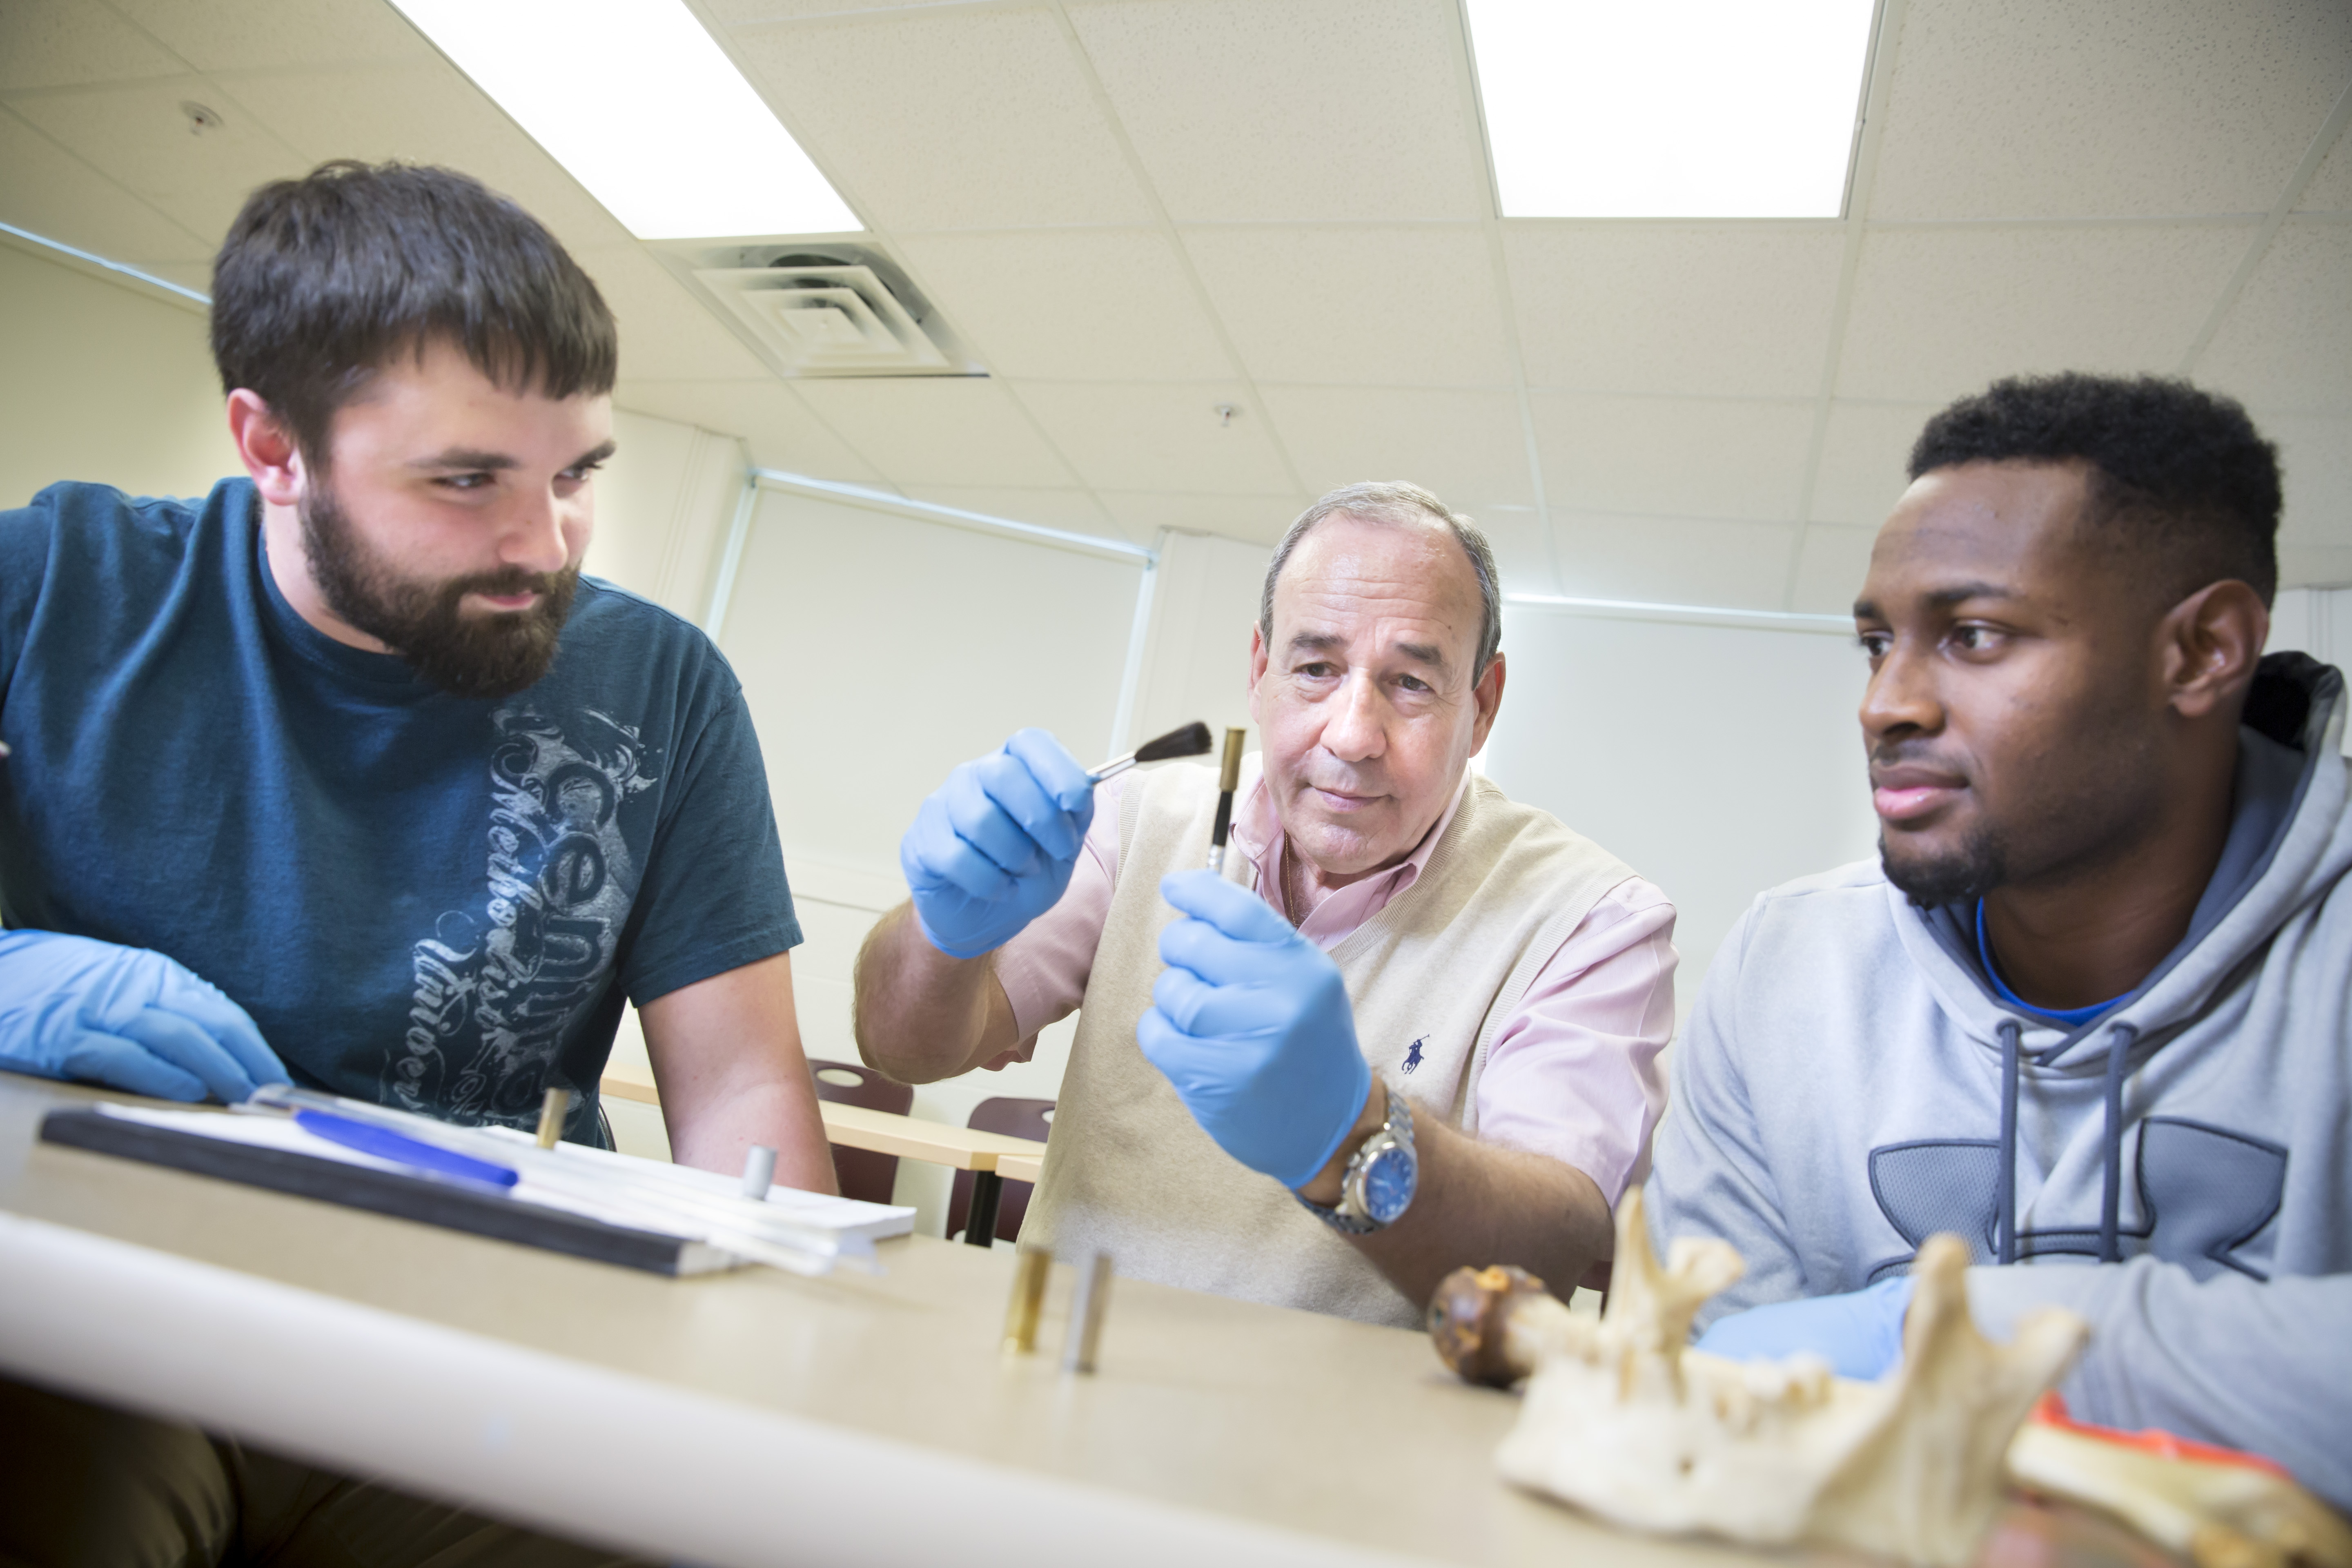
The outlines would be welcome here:
[[[1338,964],[1216,872],[1162,877],[1160,896],[1192,919],[1160,933],[1136,1044],[1221,1150],[1305,1187],[1371,1095]]]

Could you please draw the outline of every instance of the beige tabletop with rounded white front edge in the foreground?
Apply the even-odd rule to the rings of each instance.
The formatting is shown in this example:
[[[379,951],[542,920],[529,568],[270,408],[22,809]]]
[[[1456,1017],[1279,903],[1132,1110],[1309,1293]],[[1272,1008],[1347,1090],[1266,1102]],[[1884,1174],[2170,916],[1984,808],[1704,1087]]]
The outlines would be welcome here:
[[[0,1366],[703,1563],[1729,1563],[1496,1479],[1423,1335],[1117,1281],[1101,1373],[997,1349],[1011,1248],[663,1279],[38,1145],[0,1072]],[[2018,1505],[1987,1561],[2157,1563]]]

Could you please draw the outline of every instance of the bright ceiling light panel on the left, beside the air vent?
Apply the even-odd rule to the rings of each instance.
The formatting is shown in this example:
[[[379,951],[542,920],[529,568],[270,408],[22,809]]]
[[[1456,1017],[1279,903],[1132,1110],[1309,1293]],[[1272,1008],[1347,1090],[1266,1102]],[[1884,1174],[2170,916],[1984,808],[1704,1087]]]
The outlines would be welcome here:
[[[680,0],[393,0],[640,240],[861,228]]]

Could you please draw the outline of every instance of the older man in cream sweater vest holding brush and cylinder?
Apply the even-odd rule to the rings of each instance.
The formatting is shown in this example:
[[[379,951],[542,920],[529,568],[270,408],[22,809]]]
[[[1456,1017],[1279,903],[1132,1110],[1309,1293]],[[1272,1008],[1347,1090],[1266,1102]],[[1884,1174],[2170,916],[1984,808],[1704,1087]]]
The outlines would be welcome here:
[[[1562,1291],[1646,1166],[1675,910],[1470,773],[1503,703],[1494,555],[1411,484],[1291,524],[1249,635],[1232,844],[1216,771],[1094,785],[1044,731],[960,766],[858,957],[866,1060],[1025,1060],[1080,1009],[1028,1227],[1120,1274],[1416,1324],[1449,1269]]]

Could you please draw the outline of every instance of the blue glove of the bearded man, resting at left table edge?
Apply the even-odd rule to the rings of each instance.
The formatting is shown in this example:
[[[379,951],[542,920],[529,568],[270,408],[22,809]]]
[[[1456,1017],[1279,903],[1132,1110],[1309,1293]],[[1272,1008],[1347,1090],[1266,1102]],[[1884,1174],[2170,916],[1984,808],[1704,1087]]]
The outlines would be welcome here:
[[[165,954],[56,931],[0,933],[0,1067],[158,1100],[289,1081],[245,1009]]]

